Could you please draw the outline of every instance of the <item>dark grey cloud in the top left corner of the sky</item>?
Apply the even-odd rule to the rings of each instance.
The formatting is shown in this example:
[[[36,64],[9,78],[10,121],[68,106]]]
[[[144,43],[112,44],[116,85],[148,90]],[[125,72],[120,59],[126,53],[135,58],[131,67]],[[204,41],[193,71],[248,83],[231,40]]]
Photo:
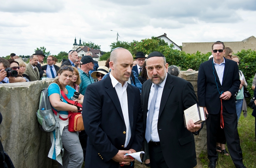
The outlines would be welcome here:
[[[0,11],[2,12],[58,12],[64,8],[64,4],[61,0],[9,0],[1,1]]]

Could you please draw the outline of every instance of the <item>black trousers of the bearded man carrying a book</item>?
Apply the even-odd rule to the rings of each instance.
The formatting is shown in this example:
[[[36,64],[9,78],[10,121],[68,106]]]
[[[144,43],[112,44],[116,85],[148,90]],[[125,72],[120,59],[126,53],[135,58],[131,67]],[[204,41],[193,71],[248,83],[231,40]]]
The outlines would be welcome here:
[[[149,156],[151,168],[168,168],[160,145],[154,145],[149,142]]]

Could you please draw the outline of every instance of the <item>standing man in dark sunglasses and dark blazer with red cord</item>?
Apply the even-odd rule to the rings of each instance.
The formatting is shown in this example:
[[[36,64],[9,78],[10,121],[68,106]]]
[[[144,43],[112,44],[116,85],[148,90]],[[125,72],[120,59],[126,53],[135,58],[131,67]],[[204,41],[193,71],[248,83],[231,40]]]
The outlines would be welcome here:
[[[237,113],[234,95],[240,80],[235,61],[225,59],[225,45],[217,41],[212,45],[213,59],[202,63],[198,72],[198,102],[209,115],[206,120],[207,152],[210,168],[216,167],[218,153],[216,140],[224,130],[230,156],[237,168],[245,168],[237,131]]]

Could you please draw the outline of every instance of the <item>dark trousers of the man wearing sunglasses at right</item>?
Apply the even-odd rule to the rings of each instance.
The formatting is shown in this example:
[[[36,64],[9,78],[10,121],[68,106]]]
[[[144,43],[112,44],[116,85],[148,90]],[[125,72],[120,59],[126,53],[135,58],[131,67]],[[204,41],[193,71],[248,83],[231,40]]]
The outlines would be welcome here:
[[[218,136],[218,130],[221,126],[221,113],[209,114],[206,120],[207,127],[207,152],[210,161],[217,161],[218,153],[216,151],[216,140]],[[237,131],[237,114],[228,113],[225,107],[223,107],[223,120],[225,137],[227,140],[227,147],[230,156],[236,167],[243,166],[243,155],[240,147],[240,140]]]

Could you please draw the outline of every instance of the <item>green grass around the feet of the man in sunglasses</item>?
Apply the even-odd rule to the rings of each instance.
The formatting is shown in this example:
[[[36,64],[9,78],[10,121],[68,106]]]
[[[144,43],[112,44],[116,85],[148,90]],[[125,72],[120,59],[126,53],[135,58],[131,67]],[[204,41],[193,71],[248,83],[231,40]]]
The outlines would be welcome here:
[[[247,110],[248,116],[244,118],[241,114],[239,118],[238,133],[243,152],[243,164],[248,168],[256,168],[255,117],[251,115],[253,110],[250,107]],[[202,151],[199,158],[203,168],[207,168],[209,164],[207,151]],[[235,168],[235,166],[230,156],[219,154],[216,168]]]

